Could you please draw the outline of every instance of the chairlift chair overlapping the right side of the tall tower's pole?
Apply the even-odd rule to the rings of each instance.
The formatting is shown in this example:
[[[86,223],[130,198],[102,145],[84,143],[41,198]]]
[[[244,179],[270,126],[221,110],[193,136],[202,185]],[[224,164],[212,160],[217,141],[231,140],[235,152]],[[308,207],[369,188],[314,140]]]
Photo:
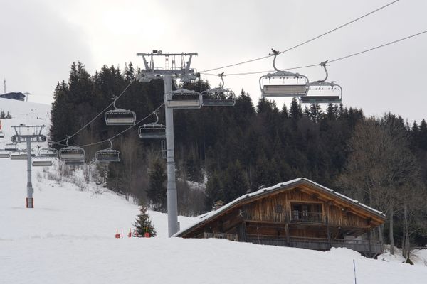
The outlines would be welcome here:
[[[200,109],[201,94],[189,89],[176,89],[164,96],[164,104],[172,109]]]

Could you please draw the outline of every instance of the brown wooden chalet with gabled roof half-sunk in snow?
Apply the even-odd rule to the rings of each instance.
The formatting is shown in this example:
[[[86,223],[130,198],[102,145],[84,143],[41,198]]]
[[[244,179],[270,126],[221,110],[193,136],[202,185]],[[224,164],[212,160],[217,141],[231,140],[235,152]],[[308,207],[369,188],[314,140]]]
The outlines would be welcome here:
[[[383,246],[372,231],[385,219],[357,200],[297,178],[243,195],[175,236],[320,251],[345,247],[374,257],[382,253]]]

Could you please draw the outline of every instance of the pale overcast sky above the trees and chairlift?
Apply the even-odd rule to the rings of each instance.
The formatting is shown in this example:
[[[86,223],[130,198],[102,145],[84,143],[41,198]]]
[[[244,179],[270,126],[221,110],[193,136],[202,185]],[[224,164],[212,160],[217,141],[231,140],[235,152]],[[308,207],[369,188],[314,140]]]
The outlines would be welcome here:
[[[51,103],[56,82],[68,80],[72,62],[93,74],[102,65],[133,62],[152,49],[197,52],[192,67],[207,70],[285,50],[391,0],[312,1],[24,1],[0,0],[0,79],[8,92],[31,92],[31,102]],[[427,1],[400,0],[330,35],[283,53],[278,67],[332,60],[427,30]],[[329,67],[344,89],[343,103],[367,115],[386,111],[410,121],[427,118],[427,33]],[[272,58],[214,73],[271,70]],[[297,70],[320,80],[320,67]],[[226,77],[254,103],[260,75]],[[206,77],[216,86],[217,77]],[[3,93],[1,84],[0,93]],[[287,102],[288,104],[288,102]],[[278,100],[282,107],[283,100]],[[1,105],[0,105],[1,107]]]

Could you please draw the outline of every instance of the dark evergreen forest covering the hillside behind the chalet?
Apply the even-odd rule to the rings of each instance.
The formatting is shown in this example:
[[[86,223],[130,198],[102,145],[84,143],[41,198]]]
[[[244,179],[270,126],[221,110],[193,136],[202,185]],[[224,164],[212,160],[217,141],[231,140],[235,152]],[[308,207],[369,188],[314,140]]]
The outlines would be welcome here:
[[[135,78],[132,63],[124,70],[103,66],[91,76],[73,64],[68,82],[58,82],[52,109],[51,140],[59,141],[84,126]],[[209,82],[186,83],[186,89],[209,89]],[[163,102],[162,80],[133,83],[117,101],[137,121]],[[162,123],[163,111],[159,118]],[[149,123],[151,116],[144,123]],[[70,139],[70,145],[93,143],[127,126],[105,126],[97,119]],[[195,215],[214,202],[230,202],[246,192],[305,177],[337,187],[349,197],[380,209],[389,217],[381,236],[403,245],[426,241],[427,124],[409,124],[400,116],[364,116],[362,109],[329,104],[302,107],[297,99],[278,108],[260,99],[253,104],[241,90],[234,107],[174,111],[179,213]],[[110,163],[107,187],[166,211],[166,165],[160,141],[143,141],[137,126],[113,141],[122,154]],[[103,145],[102,145],[103,146]],[[86,148],[87,159],[102,146]],[[107,148],[105,145],[104,148]],[[191,181],[191,182],[189,182]],[[206,187],[196,187],[194,182]]]

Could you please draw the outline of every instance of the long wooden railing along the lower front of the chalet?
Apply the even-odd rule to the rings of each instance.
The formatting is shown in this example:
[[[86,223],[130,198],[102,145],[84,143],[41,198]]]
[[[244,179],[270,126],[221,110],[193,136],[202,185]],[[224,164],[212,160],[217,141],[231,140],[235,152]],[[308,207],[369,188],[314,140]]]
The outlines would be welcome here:
[[[331,247],[347,248],[360,253],[382,253],[381,241],[369,240],[345,240],[345,239],[322,239],[322,238],[302,238],[290,237],[289,242],[283,236],[258,236],[247,235],[246,241],[253,244],[267,244],[271,246],[291,246],[301,249],[315,249],[327,251]],[[370,242],[370,244],[369,244]]]

